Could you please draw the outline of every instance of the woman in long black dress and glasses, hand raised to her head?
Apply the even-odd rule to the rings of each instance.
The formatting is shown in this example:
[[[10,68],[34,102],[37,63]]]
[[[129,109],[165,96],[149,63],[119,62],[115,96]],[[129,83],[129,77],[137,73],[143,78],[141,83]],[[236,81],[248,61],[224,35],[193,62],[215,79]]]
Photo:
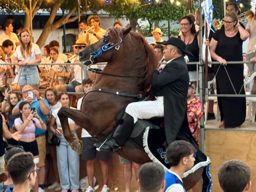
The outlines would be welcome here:
[[[223,21],[224,28],[213,34],[210,43],[212,59],[221,64],[214,65],[215,73],[219,69],[216,74],[217,93],[244,95],[244,65],[227,64],[226,61],[243,61],[242,44],[249,37],[249,33],[239,25],[235,12],[227,13]],[[218,97],[218,104],[221,111],[220,128],[236,128],[244,123],[245,97]]]

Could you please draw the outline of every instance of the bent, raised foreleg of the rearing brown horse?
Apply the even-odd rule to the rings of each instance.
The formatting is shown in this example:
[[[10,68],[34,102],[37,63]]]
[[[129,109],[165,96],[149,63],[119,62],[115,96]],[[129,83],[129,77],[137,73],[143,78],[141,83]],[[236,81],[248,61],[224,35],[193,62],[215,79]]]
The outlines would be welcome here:
[[[82,114],[81,111],[75,109],[62,107],[58,112],[58,116],[60,118],[65,139],[74,151],[81,154],[83,148],[82,141],[80,141],[77,137],[74,137],[74,135],[72,134],[68,125],[68,118],[72,119],[75,123],[77,123],[77,121],[81,123],[81,119],[85,120],[83,118],[84,114]]]

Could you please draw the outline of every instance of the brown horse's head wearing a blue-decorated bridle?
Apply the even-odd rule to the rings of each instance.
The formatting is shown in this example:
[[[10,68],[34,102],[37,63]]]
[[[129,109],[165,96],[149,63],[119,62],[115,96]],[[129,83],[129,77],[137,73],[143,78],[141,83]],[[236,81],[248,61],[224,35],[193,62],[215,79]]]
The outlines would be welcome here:
[[[130,30],[131,27],[109,29],[99,41],[79,52],[79,61],[86,65],[110,61]]]

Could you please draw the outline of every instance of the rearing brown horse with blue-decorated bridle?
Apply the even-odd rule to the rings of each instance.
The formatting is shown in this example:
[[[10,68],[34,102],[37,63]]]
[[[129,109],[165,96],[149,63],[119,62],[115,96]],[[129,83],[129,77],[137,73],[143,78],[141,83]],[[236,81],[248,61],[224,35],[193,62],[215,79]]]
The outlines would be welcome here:
[[[116,127],[118,112],[128,103],[137,101],[139,95],[144,96],[150,86],[151,73],[158,65],[157,58],[145,38],[130,30],[111,28],[101,40],[79,53],[79,60],[86,65],[107,62],[95,80],[94,91],[84,97],[81,111],[62,107],[58,113],[66,140],[79,153],[82,142],[73,137],[67,118],[101,140]],[[139,164],[151,161],[144,150],[129,140],[117,153]],[[201,178],[202,170],[203,167],[185,178],[187,190]]]

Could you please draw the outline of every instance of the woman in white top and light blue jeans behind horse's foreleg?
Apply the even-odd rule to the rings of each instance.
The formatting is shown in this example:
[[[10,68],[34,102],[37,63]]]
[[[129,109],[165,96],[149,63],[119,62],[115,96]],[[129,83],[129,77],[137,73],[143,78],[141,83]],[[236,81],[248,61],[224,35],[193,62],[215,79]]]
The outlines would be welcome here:
[[[59,94],[59,101],[62,104],[62,107],[69,108],[69,98],[66,93]],[[60,108],[55,109],[52,112],[51,131],[56,134],[60,139],[60,146],[56,147],[57,151],[57,163],[58,170],[60,175],[62,192],[78,192],[79,189],[79,155],[74,150],[72,150],[69,143],[66,141],[63,135],[62,125],[58,117],[58,111]],[[68,118],[68,123],[72,133],[77,136],[76,128],[78,128],[74,121]],[[57,129],[54,128],[54,125],[57,125]]]

